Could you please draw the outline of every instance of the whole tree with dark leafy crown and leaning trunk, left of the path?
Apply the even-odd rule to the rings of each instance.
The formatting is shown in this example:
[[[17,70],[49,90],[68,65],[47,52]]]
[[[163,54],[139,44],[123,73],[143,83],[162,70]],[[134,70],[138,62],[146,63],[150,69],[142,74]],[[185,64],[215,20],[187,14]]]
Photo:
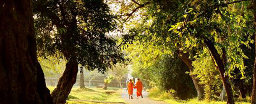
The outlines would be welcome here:
[[[34,0],[38,47],[42,56],[61,52],[65,71],[52,92],[55,104],[65,99],[76,82],[78,64],[104,73],[123,62],[116,42],[106,33],[115,29],[115,16],[103,0]]]

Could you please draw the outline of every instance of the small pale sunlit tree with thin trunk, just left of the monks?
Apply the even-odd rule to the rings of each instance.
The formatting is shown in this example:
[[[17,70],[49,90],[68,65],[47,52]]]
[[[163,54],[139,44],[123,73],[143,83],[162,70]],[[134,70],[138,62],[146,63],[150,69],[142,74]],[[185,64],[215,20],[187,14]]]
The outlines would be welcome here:
[[[114,79],[116,79],[118,81],[118,83],[120,84],[120,88],[123,89],[122,87],[122,79],[123,77],[127,74],[128,70],[127,67],[122,65],[122,64],[116,64],[112,70],[109,71],[108,74],[112,75],[114,77]]]

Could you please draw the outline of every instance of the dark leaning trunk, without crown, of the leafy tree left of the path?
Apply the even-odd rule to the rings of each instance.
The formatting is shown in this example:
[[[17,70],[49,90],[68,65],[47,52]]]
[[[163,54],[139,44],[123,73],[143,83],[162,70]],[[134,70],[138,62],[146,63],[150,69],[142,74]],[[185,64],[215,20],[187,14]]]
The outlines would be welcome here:
[[[77,61],[74,59],[68,61],[65,71],[59,79],[57,87],[52,92],[54,104],[65,104],[68,94],[71,92],[73,85],[76,83],[77,72]]]

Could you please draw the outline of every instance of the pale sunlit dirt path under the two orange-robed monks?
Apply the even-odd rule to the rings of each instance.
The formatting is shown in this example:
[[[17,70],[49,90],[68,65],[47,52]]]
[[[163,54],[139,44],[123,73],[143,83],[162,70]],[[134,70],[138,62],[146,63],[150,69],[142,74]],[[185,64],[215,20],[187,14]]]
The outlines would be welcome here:
[[[126,91],[126,88],[122,92],[122,98],[125,100],[125,102],[128,102],[128,104],[166,104],[165,102],[161,101],[155,101],[151,100],[147,97],[148,92],[143,91],[143,99],[139,97],[138,99],[136,96],[136,89],[133,89],[133,99],[129,99],[128,92]]]

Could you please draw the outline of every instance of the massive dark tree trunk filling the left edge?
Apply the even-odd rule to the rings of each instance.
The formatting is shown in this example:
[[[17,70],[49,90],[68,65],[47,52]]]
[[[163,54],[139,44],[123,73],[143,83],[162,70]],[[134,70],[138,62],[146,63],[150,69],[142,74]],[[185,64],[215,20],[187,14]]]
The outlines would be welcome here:
[[[32,0],[0,0],[0,104],[52,104],[32,16]]]

